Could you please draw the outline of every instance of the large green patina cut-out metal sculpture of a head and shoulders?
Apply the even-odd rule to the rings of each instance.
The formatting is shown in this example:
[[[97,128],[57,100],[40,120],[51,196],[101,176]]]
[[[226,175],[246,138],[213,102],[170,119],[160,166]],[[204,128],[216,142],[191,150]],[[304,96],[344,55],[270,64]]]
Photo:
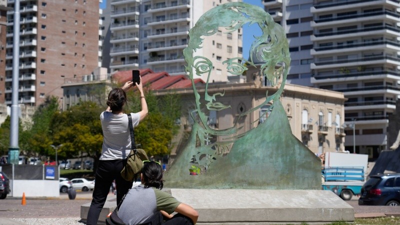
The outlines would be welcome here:
[[[242,74],[247,68],[239,62],[254,66],[262,61],[260,74],[277,90],[265,100],[239,114],[231,127],[213,129],[207,125],[210,110],[229,110],[230,105],[217,101],[224,92],[208,94],[212,62],[203,56],[193,56],[204,38],[219,30],[231,33],[243,24],[258,24],[262,35],[254,36],[250,59],[230,58],[222,63],[232,74]],[[189,140],[164,177],[168,187],[186,188],[264,188],[320,189],[320,160],[292,133],[279,97],[283,91],[290,64],[289,47],[283,28],[262,8],[243,2],[229,2],[205,12],[189,30],[188,46],[183,50],[186,71],[192,80],[196,109]],[[254,58],[256,57],[256,58]],[[206,74],[203,96],[194,79]],[[281,79],[282,82],[278,83]],[[203,106],[205,105],[205,107]],[[270,115],[257,127],[243,131],[237,121],[250,112],[270,105]],[[258,118],[259,119],[259,118]],[[258,121],[256,119],[256,122]],[[210,142],[212,137],[217,141]],[[196,174],[196,175],[190,175]]]

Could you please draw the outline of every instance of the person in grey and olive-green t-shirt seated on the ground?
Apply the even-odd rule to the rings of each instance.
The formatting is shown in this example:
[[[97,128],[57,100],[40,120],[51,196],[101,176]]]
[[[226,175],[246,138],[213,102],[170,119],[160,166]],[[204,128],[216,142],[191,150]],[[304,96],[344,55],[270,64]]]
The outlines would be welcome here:
[[[119,207],[118,216],[125,224],[196,223],[198,213],[194,208],[160,190],[163,180],[158,162],[143,161],[140,180],[141,184],[127,192]],[[173,212],[177,213],[172,216]]]

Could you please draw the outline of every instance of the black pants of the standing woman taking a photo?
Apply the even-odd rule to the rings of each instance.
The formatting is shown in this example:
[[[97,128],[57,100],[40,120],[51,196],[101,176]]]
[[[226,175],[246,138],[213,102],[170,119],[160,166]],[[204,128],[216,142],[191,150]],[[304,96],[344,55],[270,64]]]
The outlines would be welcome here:
[[[126,181],[121,176],[121,170],[126,160],[99,160],[93,190],[93,199],[91,200],[90,208],[87,213],[87,225],[96,225],[98,216],[105,203],[109,188],[112,181],[115,179],[116,185],[116,204],[132,187],[133,182]],[[104,218],[105,219],[105,218]]]

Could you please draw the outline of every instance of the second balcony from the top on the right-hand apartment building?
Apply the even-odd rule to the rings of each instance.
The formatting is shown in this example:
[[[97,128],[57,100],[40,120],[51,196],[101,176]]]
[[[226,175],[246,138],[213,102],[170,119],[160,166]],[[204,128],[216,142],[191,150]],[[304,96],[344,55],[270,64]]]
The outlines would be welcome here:
[[[400,14],[394,11],[390,10],[381,10],[381,11],[371,11],[371,12],[365,12],[365,13],[356,13],[356,14],[350,14],[350,15],[341,15],[341,16],[332,16],[332,17],[327,17],[327,18],[315,18],[314,23],[323,23],[323,22],[331,22],[335,21],[337,23],[343,23],[341,20],[345,19],[356,19],[357,21],[360,20],[360,18],[364,17],[370,17],[370,16],[377,16],[377,15],[389,15],[395,17],[395,21],[400,21]],[[370,19],[370,18],[368,18]],[[311,26],[313,26],[311,24]]]

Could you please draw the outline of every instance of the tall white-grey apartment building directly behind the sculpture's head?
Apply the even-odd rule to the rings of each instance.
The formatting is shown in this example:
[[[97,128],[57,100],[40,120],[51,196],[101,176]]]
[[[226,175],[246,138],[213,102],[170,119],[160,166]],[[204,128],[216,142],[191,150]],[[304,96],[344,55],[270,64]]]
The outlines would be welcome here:
[[[150,68],[183,74],[188,30],[208,9],[231,0],[111,0],[111,71]],[[241,30],[207,38],[195,54],[213,61],[214,81],[226,81],[222,61],[241,57]],[[220,68],[219,68],[220,67]],[[205,77],[202,77],[205,79]]]

